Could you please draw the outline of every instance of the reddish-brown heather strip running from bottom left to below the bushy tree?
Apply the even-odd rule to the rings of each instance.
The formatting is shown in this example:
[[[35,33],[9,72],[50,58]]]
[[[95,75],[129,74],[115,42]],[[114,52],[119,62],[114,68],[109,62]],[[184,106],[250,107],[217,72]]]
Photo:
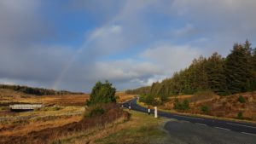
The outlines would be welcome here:
[[[102,116],[96,118],[84,118],[79,122],[73,122],[71,124],[65,124],[59,127],[51,127],[44,130],[33,130],[26,135],[1,135],[0,143],[38,143],[44,144],[49,143],[50,141],[54,141],[61,136],[69,135],[73,132],[80,132],[82,130],[87,130],[96,125],[103,125],[113,122],[114,120],[125,117],[129,118],[129,114],[127,112],[123,112],[118,106],[112,105],[105,107],[106,113]]]

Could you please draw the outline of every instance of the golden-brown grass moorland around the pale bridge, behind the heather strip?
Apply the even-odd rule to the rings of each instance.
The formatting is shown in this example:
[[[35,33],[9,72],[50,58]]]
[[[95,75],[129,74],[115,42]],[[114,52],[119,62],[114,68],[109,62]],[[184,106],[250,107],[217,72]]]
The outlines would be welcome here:
[[[118,102],[133,98],[133,95],[125,95],[122,92],[118,92],[117,95],[119,97]],[[38,96],[15,92],[11,89],[0,89],[0,137],[3,136],[5,141],[8,139],[11,141],[14,137],[23,140],[27,135],[40,135],[41,131],[42,135],[48,135],[47,130],[64,129],[63,132],[65,132],[67,125],[74,124],[75,127],[75,124],[81,123],[84,117],[84,103],[89,97],[86,94]],[[43,103],[44,107],[31,112],[11,112],[9,104],[13,103]],[[84,132],[89,133],[91,130],[105,129],[112,124],[119,124],[124,121],[125,119],[119,118],[111,124],[107,123],[101,126],[101,128],[99,125],[90,129],[86,127]],[[93,124],[91,125],[93,126]],[[78,133],[81,132],[65,133],[68,135],[65,138],[78,135]],[[61,139],[61,135],[56,135],[54,139]],[[83,135],[85,134],[83,133]]]

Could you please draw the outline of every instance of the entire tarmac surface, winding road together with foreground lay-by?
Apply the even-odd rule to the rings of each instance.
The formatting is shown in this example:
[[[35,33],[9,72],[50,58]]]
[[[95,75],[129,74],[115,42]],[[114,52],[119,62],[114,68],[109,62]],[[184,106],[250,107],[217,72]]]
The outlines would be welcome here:
[[[137,105],[137,99],[126,101],[123,106],[131,106],[131,110],[138,112],[148,112],[147,108]],[[151,112],[154,113],[154,110],[151,109]],[[158,116],[172,118],[164,129],[170,134],[170,143],[173,144],[256,144],[256,124],[160,111]]]

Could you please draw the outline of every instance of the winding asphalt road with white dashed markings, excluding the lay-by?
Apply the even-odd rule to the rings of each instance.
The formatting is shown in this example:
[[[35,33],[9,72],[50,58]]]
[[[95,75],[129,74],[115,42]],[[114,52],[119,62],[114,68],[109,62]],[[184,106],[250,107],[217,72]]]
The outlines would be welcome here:
[[[133,99],[131,101],[126,101],[123,105],[124,107],[128,108],[131,105],[131,109],[138,111],[138,112],[148,112],[148,109],[145,107],[140,107],[137,105],[137,100]],[[154,113],[152,109],[151,112]],[[208,126],[218,130],[226,130],[226,131],[235,131],[239,132],[242,135],[250,135],[253,136],[254,144],[256,144],[256,124],[247,124],[241,122],[233,122],[227,120],[218,120],[218,119],[211,119],[211,118],[197,118],[197,117],[189,117],[183,116],[176,113],[171,112],[160,112],[158,111],[159,117],[165,118],[174,118],[178,121],[183,122],[190,122],[192,124],[201,125],[201,126]]]

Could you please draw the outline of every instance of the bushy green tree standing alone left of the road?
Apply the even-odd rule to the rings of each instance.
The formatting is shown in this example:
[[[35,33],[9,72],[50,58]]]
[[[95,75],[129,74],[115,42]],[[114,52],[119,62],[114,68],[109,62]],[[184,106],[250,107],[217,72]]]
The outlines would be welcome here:
[[[90,100],[86,101],[87,106],[116,102],[116,89],[108,81],[105,84],[97,82],[90,93]]]

